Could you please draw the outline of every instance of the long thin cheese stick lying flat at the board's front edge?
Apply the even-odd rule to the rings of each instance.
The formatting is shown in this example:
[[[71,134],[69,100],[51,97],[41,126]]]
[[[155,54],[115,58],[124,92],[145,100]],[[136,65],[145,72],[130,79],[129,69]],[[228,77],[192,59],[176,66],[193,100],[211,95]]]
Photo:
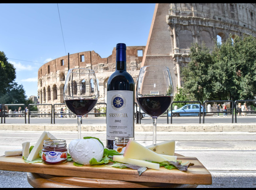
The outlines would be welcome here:
[[[126,158],[126,157],[123,157],[123,155],[114,155],[113,160],[116,162],[122,162],[125,164],[132,164],[132,165],[136,165],[136,166],[147,167],[147,168],[159,170],[159,164],[147,162],[144,160]]]

